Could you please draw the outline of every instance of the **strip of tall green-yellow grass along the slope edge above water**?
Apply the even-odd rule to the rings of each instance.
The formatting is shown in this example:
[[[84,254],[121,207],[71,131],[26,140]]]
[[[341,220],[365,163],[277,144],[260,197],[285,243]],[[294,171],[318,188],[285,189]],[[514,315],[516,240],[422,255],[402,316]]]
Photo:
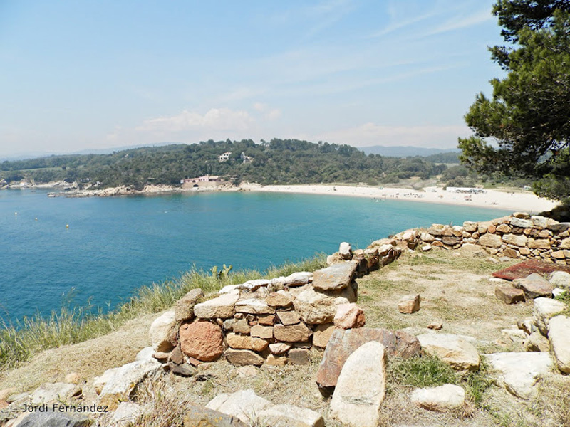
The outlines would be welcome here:
[[[264,273],[257,270],[230,271],[222,268],[213,275],[192,268],[177,280],[143,286],[130,301],[108,313],[90,312],[90,307],[63,307],[60,312],[52,312],[50,317],[25,317],[16,325],[0,325],[0,371],[10,369],[24,362],[41,350],[60,347],[66,344],[83,342],[86,339],[108,334],[118,329],[130,319],[145,313],[160,312],[171,307],[188,291],[200,288],[204,293],[215,292],[225,285],[244,283],[259,278],[274,278],[289,275],[295,271],[314,271],[326,265],[326,257],[318,254],[314,258],[299,263],[287,263],[281,267],[271,267]]]

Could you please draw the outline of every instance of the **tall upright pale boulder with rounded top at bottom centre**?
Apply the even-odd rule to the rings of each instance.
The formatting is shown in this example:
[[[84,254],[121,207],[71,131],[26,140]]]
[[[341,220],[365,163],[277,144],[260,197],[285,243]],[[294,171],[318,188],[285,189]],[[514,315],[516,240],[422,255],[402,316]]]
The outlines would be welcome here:
[[[358,347],[344,363],[329,413],[353,427],[376,427],[385,396],[387,354],[380,342]]]

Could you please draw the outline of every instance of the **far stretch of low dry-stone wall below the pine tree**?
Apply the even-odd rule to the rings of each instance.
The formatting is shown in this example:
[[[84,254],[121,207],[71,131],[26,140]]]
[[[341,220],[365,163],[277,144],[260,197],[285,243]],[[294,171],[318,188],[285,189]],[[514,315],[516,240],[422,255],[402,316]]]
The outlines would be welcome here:
[[[420,234],[420,241],[447,249],[471,243],[491,255],[542,258],[570,265],[570,223],[524,212],[492,221],[465,221],[463,226],[433,224]]]

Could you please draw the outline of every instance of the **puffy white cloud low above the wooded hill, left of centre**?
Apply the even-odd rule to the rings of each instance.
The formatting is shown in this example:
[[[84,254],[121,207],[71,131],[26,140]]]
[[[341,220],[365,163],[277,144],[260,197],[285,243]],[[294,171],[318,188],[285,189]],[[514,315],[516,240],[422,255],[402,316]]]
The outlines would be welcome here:
[[[185,110],[178,115],[145,120],[137,130],[160,132],[182,132],[185,130],[243,131],[249,129],[253,122],[254,119],[247,111],[212,108],[204,115]]]

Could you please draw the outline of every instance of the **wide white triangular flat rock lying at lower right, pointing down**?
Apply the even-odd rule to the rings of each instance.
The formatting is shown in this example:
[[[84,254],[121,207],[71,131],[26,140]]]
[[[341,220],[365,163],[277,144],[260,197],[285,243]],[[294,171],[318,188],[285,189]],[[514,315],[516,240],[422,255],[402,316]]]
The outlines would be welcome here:
[[[521,399],[529,399],[534,384],[553,366],[548,353],[495,353],[486,357],[492,369],[498,372],[499,383]]]

